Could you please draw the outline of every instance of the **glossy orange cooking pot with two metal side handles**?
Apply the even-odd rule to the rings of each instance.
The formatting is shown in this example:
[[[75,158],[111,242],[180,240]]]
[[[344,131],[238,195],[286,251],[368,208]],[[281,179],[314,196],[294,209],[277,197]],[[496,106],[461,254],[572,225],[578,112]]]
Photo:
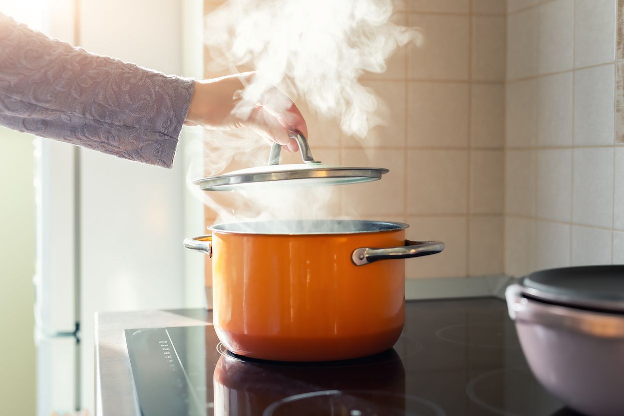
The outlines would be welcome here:
[[[240,356],[321,361],[392,347],[404,324],[405,258],[439,253],[402,223],[256,221],[187,238],[212,258],[213,324]]]

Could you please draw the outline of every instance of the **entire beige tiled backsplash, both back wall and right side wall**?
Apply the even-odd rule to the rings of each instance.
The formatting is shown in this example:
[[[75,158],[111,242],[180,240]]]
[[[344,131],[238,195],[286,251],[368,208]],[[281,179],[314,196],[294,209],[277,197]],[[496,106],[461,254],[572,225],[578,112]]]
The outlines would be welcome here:
[[[397,1],[425,42],[362,79],[385,125],[357,140],[302,108],[314,155],[391,170],[336,213],[447,243],[407,278],[623,263],[623,3]]]

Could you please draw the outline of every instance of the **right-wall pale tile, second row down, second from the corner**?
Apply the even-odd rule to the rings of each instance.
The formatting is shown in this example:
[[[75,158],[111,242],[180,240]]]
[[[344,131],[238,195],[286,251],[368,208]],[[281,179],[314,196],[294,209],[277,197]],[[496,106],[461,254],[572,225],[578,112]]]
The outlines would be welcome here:
[[[537,82],[537,145],[572,145],[572,72]]]

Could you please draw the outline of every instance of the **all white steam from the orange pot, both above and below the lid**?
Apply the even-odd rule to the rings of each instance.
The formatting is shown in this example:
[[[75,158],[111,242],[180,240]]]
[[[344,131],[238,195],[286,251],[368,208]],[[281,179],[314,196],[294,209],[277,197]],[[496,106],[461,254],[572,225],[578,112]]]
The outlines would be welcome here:
[[[205,18],[205,69],[212,74],[256,71],[234,110],[239,116],[276,85],[319,117],[336,120],[346,135],[366,140],[369,128],[382,120],[373,114],[376,97],[359,78],[364,72],[384,72],[386,59],[398,47],[422,40],[417,29],[392,23],[391,14],[391,0],[229,0]],[[263,104],[278,112],[287,105]],[[265,165],[268,158],[269,147],[251,130],[206,131],[203,141],[206,176]],[[311,150],[323,160],[314,141],[310,137]],[[333,153],[333,160],[324,162],[339,163],[338,150]],[[187,178],[190,189],[217,213],[218,223],[349,214],[347,204],[339,206],[341,186],[215,193],[191,185],[195,179]]]

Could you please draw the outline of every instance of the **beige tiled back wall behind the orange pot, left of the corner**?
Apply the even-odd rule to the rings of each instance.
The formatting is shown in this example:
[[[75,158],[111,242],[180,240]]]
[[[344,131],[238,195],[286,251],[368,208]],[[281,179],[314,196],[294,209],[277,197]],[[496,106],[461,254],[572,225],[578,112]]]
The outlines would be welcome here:
[[[341,214],[406,222],[407,238],[447,243],[407,261],[407,278],[502,274],[505,0],[395,3],[394,21],[420,27],[425,39],[361,79],[385,125],[358,140],[300,106],[311,148],[324,161],[391,170],[343,186]],[[208,224],[213,216],[207,211]]]

